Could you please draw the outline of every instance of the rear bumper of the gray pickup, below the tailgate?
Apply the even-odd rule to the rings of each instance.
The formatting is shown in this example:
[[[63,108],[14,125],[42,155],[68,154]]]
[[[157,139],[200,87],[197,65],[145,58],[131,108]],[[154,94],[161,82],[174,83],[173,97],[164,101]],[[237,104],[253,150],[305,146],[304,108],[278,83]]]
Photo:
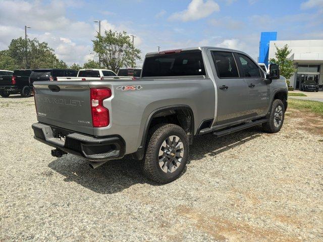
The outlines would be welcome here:
[[[94,138],[41,123],[31,127],[36,140],[91,161],[120,159],[125,155],[126,145],[120,136]],[[65,141],[58,138],[62,136]]]

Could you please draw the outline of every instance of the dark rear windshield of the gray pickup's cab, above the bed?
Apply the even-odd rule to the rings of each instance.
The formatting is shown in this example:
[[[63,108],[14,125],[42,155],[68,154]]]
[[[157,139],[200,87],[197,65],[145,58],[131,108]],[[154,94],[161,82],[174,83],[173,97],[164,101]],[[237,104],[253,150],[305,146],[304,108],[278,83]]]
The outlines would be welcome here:
[[[142,77],[197,75],[205,75],[200,50],[146,57],[142,68]]]

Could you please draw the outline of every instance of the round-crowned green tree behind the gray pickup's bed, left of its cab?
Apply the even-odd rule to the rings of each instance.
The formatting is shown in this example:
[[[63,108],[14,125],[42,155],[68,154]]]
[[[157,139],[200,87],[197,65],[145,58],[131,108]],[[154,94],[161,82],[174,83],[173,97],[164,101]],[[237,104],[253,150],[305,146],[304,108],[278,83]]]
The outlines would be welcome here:
[[[135,67],[141,59],[140,49],[133,47],[130,36],[124,32],[104,31],[97,34],[93,42],[93,51],[101,56],[101,63],[106,69],[118,72],[122,67]]]

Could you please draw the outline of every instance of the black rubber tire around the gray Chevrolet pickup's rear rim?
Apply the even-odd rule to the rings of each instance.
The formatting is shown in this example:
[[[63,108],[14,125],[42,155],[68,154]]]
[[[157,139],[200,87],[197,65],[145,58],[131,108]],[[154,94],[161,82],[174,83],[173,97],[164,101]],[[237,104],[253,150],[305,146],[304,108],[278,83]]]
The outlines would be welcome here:
[[[167,171],[163,171],[163,169],[159,165],[159,157],[161,157],[159,156],[159,150],[161,149],[163,144],[165,144],[164,142],[166,142],[167,138],[170,136],[177,136],[178,138],[180,138],[180,140],[182,141],[181,144],[183,144],[184,147],[180,164],[176,166],[175,170],[173,170],[172,172],[169,172],[167,167]],[[181,127],[173,124],[157,125],[153,127],[148,134],[142,167],[143,173],[147,178],[156,181],[157,183],[170,183],[171,181],[177,179],[183,172],[186,166],[188,153],[188,136]]]

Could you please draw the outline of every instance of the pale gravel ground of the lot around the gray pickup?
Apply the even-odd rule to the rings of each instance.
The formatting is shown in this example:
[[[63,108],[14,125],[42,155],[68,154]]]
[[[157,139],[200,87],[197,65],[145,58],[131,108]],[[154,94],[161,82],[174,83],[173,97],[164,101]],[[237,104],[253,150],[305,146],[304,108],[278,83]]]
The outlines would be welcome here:
[[[0,240],[322,241],[323,121],[302,114],[277,134],[198,137],[184,175],[158,186],[130,157],[91,170],[50,156],[33,97],[0,98]]]

